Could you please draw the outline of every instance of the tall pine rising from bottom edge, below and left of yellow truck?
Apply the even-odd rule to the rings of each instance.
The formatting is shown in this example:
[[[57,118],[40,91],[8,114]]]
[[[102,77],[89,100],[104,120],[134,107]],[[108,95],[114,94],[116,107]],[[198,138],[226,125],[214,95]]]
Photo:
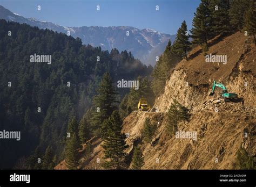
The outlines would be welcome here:
[[[125,169],[126,154],[124,150],[127,148],[125,143],[126,136],[121,133],[123,121],[117,110],[113,111],[112,115],[105,120],[106,133],[104,143],[104,168],[107,169]]]

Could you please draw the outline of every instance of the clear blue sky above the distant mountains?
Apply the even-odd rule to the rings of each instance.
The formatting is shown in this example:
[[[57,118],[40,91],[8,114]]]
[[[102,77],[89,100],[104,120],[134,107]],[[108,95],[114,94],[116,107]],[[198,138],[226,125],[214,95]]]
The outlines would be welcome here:
[[[183,20],[191,29],[199,3],[200,0],[0,0],[0,5],[25,18],[62,26],[133,26],[167,34],[176,34]],[[38,5],[41,11],[37,10]]]

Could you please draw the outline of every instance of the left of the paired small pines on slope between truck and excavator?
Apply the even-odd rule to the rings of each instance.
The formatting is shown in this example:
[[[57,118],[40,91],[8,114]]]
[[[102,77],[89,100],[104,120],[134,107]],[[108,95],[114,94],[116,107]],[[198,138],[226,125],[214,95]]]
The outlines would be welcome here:
[[[179,111],[178,111],[178,102],[173,99],[168,112],[167,112],[167,124],[166,130],[170,135],[174,135],[178,131],[178,121],[179,121]]]

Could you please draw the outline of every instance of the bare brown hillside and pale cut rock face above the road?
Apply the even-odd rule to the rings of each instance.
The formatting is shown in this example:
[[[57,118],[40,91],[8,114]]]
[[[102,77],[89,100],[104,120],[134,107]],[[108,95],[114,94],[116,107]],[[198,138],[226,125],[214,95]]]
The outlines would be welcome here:
[[[200,47],[194,48],[190,59],[179,62],[172,70],[163,94],[156,99],[154,107],[166,112],[173,98],[185,106],[198,107],[212,98],[208,97],[208,93],[213,80],[224,83],[229,92],[238,93],[240,98],[244,98],[245,105],[255,106],[255,46],[246,44],[247,40],[240,32],[217,41],[210,41],[208,54],[227,55],[227,63],[205,62]],[[214,97],[220,91],[217,88]]]

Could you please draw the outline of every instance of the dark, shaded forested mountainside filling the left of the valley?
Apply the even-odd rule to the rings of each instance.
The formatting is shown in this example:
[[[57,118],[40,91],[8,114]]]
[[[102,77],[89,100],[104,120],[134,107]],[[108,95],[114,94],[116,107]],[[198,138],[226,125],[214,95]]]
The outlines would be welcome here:
[[[152,70],[126,51],[102,51],[82,45],[79,38],[26,24],[0,20],[0,36],[0,128],[21,131],[20,141],[1,141],[1,169],[15,163],[26,168],[37,147],[42,158],[49,147],[46,157],[63,159],[68,121],[72,116],[80,120],[92,107],[103,74],[109,72],[116,85]],[[34,54],[51,55],[51,63],[31,63]],[[119,88],[117,102],[128,91]]]

